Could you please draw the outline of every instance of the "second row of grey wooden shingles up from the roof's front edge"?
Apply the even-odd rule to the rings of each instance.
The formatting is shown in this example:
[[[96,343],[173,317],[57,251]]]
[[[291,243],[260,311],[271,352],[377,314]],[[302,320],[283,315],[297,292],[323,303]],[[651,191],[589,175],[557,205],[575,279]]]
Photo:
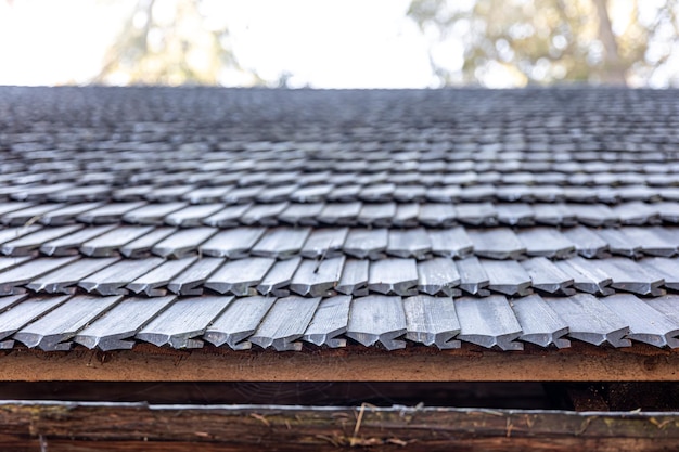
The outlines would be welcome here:
[[[550,261],[538,257],[521,262],[469,257],[453,261],[388,258],[376,261],[332,257],[277,261],[252,257],[223,258],[0,258],[0,295],[23,293],[101,296],[128,293],[164,296],[201,295],[204,290],[236,296],[294,293],[319,297],[332,294],[472,295],[490,292],[522,296],[537,289],[554,295],[576,290],[611,295],[628,292],[659,296],[679,290],[679,259],[626,258]]]

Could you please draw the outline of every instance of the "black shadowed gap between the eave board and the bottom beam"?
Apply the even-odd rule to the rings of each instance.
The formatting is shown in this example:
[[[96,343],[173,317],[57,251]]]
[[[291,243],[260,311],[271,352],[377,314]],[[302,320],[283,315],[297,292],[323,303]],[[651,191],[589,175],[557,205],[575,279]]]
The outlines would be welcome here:
[[[551,393],[561,395],[575,384],[554,383]],[[669,397],[649,410],[679,406],[675,383],[645,383],[639,393],[658,385]],[[653,388],[649,388],[652,386]],[[561,391],[558,392],[554,387]],[[2,382],[0,400],[72,400],[138,402],[154,404],[268,404],[380,406],[417,405],[496,409],[560,409],[540,383],[530,382]],[[561,401],[561,399],[560,399]],[[665,402],[666,401],[666,402]],[[592,411],[592,410],[590,410]]]

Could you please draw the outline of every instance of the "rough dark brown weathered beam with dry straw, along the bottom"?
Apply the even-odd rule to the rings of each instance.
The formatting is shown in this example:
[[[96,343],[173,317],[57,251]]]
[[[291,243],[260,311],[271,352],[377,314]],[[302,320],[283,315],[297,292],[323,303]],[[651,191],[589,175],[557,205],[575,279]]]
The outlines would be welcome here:
[[[676,413],[5,402],[2,450],[674,450]],[[180,449],[183,448],[183,449]]]

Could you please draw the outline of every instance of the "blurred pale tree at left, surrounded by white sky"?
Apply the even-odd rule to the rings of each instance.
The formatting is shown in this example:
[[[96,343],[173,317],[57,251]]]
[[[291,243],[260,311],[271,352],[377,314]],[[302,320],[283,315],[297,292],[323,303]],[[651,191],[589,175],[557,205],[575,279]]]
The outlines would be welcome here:
[[[240,67],[226,24],[202,0],[138,0],[93,81],[219,85],[230,76],[261,82]]]

